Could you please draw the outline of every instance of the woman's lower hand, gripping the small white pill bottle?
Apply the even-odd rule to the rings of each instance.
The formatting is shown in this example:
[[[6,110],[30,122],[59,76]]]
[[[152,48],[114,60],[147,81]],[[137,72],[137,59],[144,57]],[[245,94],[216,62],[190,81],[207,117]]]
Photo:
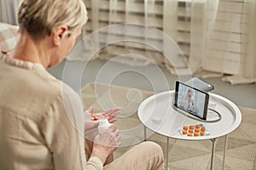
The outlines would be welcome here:
[[[106,131],[96,135],[91,156],[97,156],[104,164],[108,156],[119,146],[119,139],[119,130],[115,125],[111,125]]]

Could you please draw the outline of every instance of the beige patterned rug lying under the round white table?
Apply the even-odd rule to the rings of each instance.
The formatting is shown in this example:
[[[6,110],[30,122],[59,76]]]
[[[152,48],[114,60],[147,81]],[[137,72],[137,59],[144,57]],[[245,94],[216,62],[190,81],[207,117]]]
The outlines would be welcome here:
[[[89,83],[82,88],[81,94],[84,105],[93,106],[96,112],[104,111],[104,107],[109,108],[112,107],[111,105],[118,105],[122,108],[118,121],[114,123],[121,135],[121,144],[113,154],[115,159],[123,156],[130,146],[143,142],[145,131],[137,116],[137,105],[141,103],[140,100],[137,100],[137,90],[133,91],[131,88],[120,86],[109,88],[108,85]],[[153,93],[139,91],[139,94],[143,99],[146,99]],[[256,128],[256,110],[240,107],[240,111],[242,115],[241,124],[235,131],[229,133],[225,152],[225,137],[214,139],[216,142],[214,161],[211,161],[211,140],[191,141],[189,139],[169,138],[167,149],[166,137],[154,133],[148,128],[146,130],[147,140],[160,144],[166,160],[168,157],[166,164],[173,170],[206,170],[210,169],[211,162],[213,162],[213,169],[222,169],[224,166],[225,170],[256,170],[256,134],[253,133],[253,129]],[[228,126],[228,124],[226,125]]]

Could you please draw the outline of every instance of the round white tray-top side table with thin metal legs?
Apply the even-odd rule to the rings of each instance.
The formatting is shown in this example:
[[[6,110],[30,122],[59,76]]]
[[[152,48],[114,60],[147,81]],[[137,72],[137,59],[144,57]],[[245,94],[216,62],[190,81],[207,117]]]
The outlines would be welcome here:
[[[214,105],[215,111],[218,111],[222,118],[218,122],[201,122],[182,114],[172,107],[174,99],[174,90],[154,94],[148,99],[145,99],[138,108],[138,117],[145,128],[149,128],[156,133],[160,133],[167,137],[167,150],[169,150],[169,138],[184,139],[184,140],[212,140],[212,157],[211,170],[213,169],[214,153],[216,146],[216,139],[225,136],[224,144],[224,158],[227,148],[227,135],[234,131],[241,123],[241,111],[229,99],[218,94],[210,94],[210,102]],[[214,120],[217,114],[208,113],[207,120]],[[205,136],[185,136],[182,135],[178,129],[186,125],[203,124],[210,133]],[[147,138],[146,130],[144,137]],[[166,168],[168,167],[168,151],[166,151]],[[223,160],[224,168],[224,160]]]

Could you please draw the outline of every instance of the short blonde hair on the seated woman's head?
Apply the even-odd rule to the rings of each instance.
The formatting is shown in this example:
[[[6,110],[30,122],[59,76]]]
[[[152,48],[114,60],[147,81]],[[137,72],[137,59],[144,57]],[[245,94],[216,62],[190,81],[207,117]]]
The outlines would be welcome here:
[[[67,26],[73,32],[87,22],[87,11],[81,0],[21,0],[18,11],[20,31],[38,39],[50,35],[56,26]]]

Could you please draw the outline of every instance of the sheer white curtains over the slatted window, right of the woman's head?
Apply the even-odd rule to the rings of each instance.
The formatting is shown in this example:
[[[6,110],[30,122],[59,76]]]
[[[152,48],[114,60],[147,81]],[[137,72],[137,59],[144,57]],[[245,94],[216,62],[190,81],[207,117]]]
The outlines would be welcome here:
[[[255,0],[84,0],[84,3],[90,15],[84,32],[86,35],[93,32],[93,37],[86,44],[80,43],[75,49],[77,54],[70,59],[90,58],[92,53],[84,56],[83,51],[78,53],[78,48],[87,51],[101,48],[93,59],[122,56],[115,61],[129,65],[155,63],[172,73],[177,68],[186,70],[189,63],[195,76],[224,76],[224,81],[233,84],[256,80]],[[125,23],[148,27],[125,25],[115,30],[104,29]],[[177,42],[181,53],[172,53],[172,62],[163,55],[170,52],[171,46],[166,43],[169,40],[149,26]],[[131,41],[119,41],[124,39]],[[186,59],[178,57],[183,54]]]

